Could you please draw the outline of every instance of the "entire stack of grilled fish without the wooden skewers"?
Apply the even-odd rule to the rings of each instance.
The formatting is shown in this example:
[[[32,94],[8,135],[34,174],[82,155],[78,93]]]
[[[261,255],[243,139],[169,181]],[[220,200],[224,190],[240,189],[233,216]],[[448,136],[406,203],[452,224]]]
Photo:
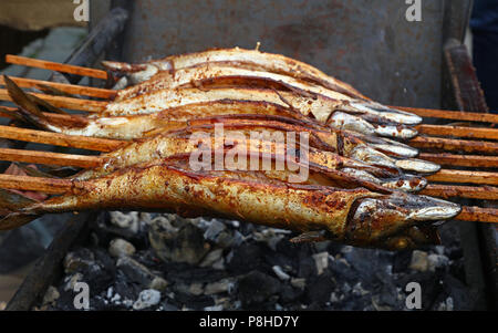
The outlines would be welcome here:
[[[421,117],[309,64],[235,48],[104,66],[123,86],[104,112],[69,123],[20,113],[44,129],[129,143],[72,176],[71,192],[17,198],[0,228],[44,212],[159,210],[293,229],[294,241],[405,249],[437,242],[438,222],[460,211],[416,195],[439,169],[400,142]]]

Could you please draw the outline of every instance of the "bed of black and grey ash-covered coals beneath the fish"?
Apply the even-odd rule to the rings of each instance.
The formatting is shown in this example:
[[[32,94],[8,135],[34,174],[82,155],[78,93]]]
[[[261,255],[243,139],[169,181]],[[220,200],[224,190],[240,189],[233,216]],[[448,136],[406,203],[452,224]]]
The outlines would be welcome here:
[[[445,247],[402,252],[295,244],[293,236],[238,221],[113,212],[68,253],[63,278],[37,308],[74,310],[77,282],[89,285],[90,310],[407,310],[409,282],[421,284],[423,310],[473,308],[453,233]]]

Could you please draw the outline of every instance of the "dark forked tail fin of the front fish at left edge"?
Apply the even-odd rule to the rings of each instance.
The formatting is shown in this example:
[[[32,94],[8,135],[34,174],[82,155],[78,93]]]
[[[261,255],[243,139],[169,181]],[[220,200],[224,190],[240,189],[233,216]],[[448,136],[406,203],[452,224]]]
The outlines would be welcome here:
[[[20,212],[37,202],[21,194],[0,188],[0,230],[19,228],[37,219],[38,215]]]

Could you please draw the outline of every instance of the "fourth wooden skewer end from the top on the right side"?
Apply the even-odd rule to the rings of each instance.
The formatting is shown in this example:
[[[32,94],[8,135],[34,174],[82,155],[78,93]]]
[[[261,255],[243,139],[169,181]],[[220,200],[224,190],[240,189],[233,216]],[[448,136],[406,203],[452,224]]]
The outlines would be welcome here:
[[[422,153],[421,159],[429,160],[445,166],[461,166],[476,168],[498,168],[498,156],[452,155]]]

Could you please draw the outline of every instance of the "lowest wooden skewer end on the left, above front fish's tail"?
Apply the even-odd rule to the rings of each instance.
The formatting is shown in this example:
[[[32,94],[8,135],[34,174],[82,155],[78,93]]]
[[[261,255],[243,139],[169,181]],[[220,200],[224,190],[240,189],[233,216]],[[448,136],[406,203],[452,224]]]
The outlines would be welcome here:
[[[62,195],[71,191],[72,181],[69,179],[0,175],[0,188]]]

